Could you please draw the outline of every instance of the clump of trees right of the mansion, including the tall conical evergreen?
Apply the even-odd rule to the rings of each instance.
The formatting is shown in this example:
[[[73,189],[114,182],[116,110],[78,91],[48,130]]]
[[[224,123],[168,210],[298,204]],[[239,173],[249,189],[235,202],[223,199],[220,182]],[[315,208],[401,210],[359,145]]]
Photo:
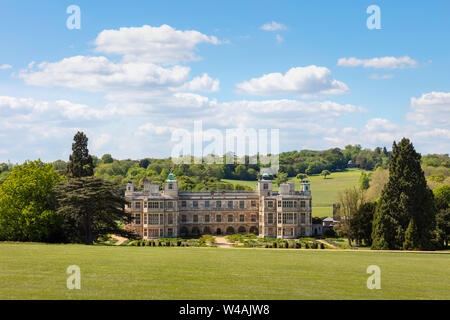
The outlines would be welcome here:
[[[381,195],[366,201],[367,176],[360,187],[339,197],[336,231],[357,244],[380,250],[433,250],[448,246],[450,237],[450,186],[427,185],[421,156],[403,138],[394,142],[389,178]]]

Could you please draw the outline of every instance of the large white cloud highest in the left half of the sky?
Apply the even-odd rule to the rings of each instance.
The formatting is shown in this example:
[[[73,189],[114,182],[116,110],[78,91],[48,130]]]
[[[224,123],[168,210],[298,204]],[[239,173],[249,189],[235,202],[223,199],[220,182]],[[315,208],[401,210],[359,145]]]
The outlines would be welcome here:
[[[217,45],[220,41],[195,30],[181,31],[164,24],[103,30],[94,43],[97,52],[121,55],[125,61],[178,63],[198,59],[198,44]]]

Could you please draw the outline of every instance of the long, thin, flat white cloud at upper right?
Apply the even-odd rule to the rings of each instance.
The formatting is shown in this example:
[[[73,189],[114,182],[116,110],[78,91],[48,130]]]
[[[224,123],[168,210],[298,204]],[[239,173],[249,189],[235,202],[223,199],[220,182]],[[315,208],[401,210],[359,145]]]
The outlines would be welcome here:
[[[340,58],[338,60],[338,66],[342,67],[360,67],[365,68],[375,68],[375,69],[405,69],[405,68],[415,68],[418,63],[416,60],[411,59],[408,56],[404,57],[380,57],[371,59],[357,59],[351,58]]]

